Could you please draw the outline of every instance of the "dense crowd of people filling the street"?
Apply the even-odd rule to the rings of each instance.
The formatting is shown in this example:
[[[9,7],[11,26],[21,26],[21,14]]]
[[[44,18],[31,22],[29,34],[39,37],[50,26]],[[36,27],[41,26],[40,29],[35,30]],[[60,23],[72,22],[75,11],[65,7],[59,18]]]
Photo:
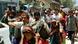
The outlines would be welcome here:
[[[74,44],[78,32],[78,10],[61,9],[7,10],[1,22],[9,25],[12,44]]]

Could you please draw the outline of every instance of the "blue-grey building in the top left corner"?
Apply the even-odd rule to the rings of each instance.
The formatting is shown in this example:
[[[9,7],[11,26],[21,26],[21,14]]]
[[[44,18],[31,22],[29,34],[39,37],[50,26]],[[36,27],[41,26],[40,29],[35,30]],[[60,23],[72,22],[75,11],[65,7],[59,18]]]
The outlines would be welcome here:
[[[2,18],[7,7],[12,7],[15,9],[18,4],[19,0],[0,0],[0,19]]]

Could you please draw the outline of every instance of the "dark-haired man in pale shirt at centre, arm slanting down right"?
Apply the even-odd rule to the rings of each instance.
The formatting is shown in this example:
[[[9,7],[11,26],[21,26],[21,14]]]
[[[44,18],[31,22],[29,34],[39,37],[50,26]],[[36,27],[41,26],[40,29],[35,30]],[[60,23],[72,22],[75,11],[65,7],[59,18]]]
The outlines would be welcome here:
[[[44,25],[44,27],[46,28],[46,30],[49,31],[48,30],[49,27],[48,27],[47,23],[40,18],[40,13],[39,12],[35,12],[34,13],[34,21],[32,21],[31,25],[32,25],[32,28],[35,29],[35,32],[38,32],[37,28],[39,26],[42,26],[42,25]]]

